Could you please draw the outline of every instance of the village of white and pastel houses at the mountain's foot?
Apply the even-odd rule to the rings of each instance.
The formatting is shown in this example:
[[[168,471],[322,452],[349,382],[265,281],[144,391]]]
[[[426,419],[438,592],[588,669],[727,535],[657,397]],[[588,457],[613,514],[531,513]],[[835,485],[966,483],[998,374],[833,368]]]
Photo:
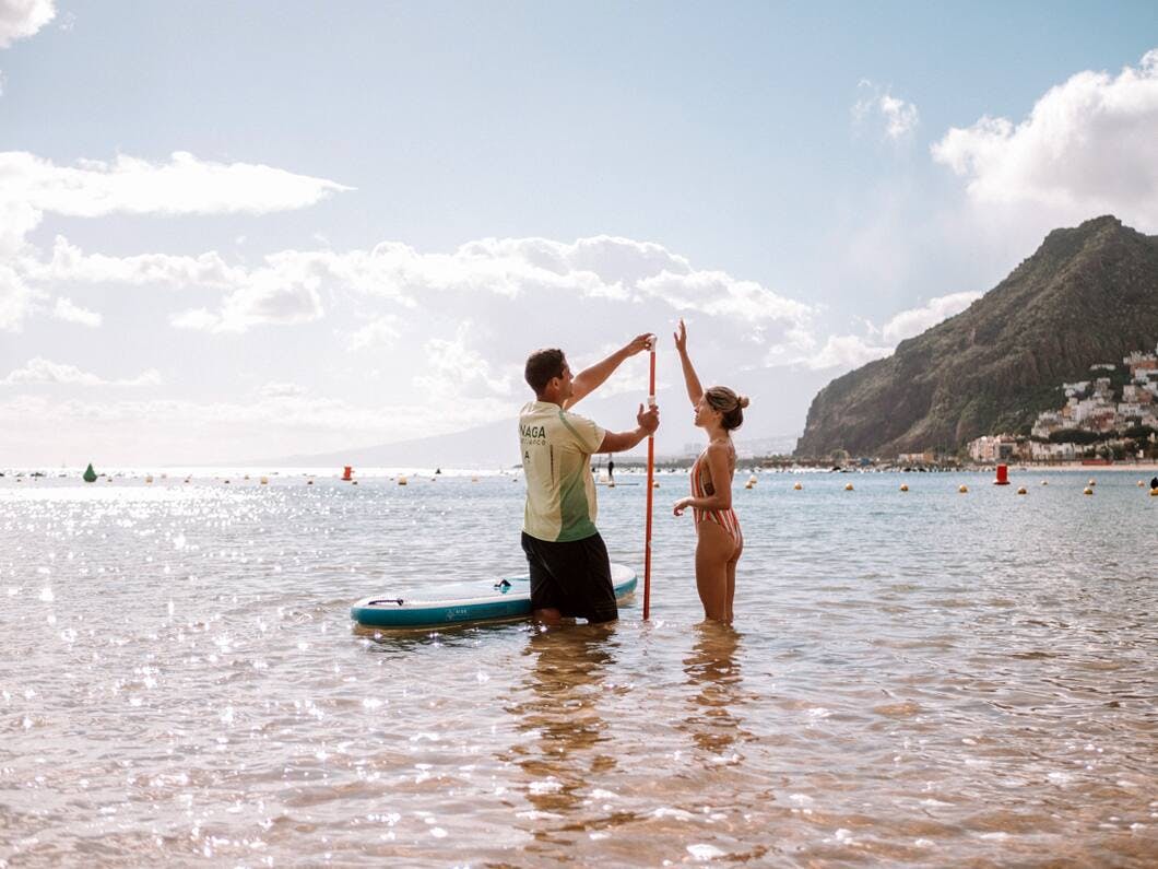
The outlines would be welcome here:
[[[985,436],[969,441],[977,463],[1153,458],[1158,439],[1158,346],[1135,351],[1122,365],[1090,366],[1090,379],[1060,387],[1065,404],[1038,415],[1028,437]]]

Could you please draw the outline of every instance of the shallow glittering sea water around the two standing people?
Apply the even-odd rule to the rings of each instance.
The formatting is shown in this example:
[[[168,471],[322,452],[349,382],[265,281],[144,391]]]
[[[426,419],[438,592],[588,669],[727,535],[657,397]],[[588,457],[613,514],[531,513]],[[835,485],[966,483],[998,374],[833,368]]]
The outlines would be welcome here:
[[[1155,866],[1158,498],[1012,476],[738,484],[731,629],[661,474],[648,623],[405,635],[521,482],[5,477],[0,866]]]

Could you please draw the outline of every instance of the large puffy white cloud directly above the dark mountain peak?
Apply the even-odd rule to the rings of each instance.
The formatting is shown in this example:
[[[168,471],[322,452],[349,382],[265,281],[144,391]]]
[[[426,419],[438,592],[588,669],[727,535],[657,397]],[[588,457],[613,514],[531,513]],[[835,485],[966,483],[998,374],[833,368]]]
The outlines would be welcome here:
[[[1018,124],[982,117],[932,145],[977,204],[1026,204],[1056,226],[1113,212],[1158,226],[1158,49],[1117,76],[1079,72]]]

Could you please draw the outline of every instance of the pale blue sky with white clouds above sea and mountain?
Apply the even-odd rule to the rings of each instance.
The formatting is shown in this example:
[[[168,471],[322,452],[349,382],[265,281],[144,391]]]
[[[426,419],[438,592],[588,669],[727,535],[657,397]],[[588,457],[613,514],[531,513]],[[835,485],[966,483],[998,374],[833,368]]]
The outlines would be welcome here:
[[[450,433],[644,331],[675,453],[681,316],[783,440],[1050,229],[1158,233],[1156,143],[1152,2],[0,0],[0,467]]]

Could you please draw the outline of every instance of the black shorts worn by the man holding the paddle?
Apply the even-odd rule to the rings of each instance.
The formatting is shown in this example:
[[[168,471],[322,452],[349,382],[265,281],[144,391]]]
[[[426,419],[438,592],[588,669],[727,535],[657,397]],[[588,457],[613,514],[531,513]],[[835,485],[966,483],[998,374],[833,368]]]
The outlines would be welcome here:
[[[620,608],[611,562],[598,533],[582,540],[549,541],[522,533],[530,567],[530,608],[558,609],[567,619],[615,621]]]

